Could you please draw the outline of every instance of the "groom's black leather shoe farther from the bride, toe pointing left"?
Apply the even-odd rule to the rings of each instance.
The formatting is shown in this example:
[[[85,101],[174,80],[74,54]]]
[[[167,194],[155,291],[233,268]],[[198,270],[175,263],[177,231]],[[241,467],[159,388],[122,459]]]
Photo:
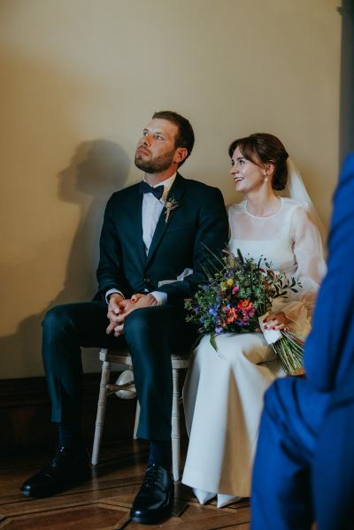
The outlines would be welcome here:
[[[23,495],[50,497],[89,478],[89,453],[60,447],[50,464],[19,488]]]

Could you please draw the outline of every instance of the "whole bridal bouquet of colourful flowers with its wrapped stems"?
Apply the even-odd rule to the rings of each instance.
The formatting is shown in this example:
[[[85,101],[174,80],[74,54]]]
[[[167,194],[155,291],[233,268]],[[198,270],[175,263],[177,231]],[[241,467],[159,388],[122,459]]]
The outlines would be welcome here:
[[[208,282],[185,302],[185,307],[189,312],[187,321],[199,324],[199,333],[210,334],[216,350],[216,335],[259,332],[273,300],[286,297],[289,290],[297,292],[302,288],[294,278],[290,281],[284,274],[273,271],[266,257],[256,262],[252,257],[243,257],[240,250],[237,256],[224,250],[221,259],[212,257],[210,265],[214,272],[205,268]],[[304,373],[304,342],[289,330],[263,331],[284,372],[289,375]],[[276,336],[267,337],[271,334]]]

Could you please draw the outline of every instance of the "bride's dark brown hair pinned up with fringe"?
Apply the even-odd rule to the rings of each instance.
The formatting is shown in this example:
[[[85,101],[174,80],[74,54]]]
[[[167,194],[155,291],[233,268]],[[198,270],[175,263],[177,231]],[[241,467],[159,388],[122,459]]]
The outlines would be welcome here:
[[[274,168],[272,188],[281,191],[287,185],[289,157],[285,147],[273,134],[256,133],[245,138],[239,138],[231,143],[228,154],[233,157],[236,147],[242,152],[242,156],[256,165],[272,163]]]

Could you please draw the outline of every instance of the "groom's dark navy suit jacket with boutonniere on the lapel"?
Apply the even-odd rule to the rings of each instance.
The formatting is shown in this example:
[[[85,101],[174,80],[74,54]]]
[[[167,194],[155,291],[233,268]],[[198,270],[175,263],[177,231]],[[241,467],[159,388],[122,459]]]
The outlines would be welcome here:
[[[218,253],[227,244],[227,212],[218,188],[184,179],[179,173],[167,198],[178,207],[165,209],[158,219],[146,256],[142,242],[142,195],[139,184],[112,195],[104,213],[97,269],[99,295],[117,288],[126,297],[134,293],[163,291],[168,303],[183,303],[204,280],[205,247]],[[194,273],[183,281],[158,287],[161,280],[173,280],[184,269]]]

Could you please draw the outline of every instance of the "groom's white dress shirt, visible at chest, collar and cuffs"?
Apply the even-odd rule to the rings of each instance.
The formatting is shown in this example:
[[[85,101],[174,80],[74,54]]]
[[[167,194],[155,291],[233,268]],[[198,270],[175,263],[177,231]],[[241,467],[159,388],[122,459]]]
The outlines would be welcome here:
[[[146,255],[148,255],[150,244],[152,242],[152,238],[154,236],[155,229],[158,224],[158,219],[161,215],[161,212],[165,208],[167,196],[173,185],[173,181],[176,178],[176,174],[177,173],[174,173],[169,179],[166,179],[163,182],[159,182],[158,184],[152,187],[157,188],[158,186],[164,186],[164,192],[160,199],[152,195],[152,193],[144,193],[142,196],[142,241],[144,243]],[[143,180],[146,182],[145,176]],[[119,293],[119,295],[124,297],[123,293],[121,293],[118,289],[109,289],[105,294],[105,299],[107,303],[108,296],[112,295],[112,293]],[[166,293],[162,293],[161,291],[152,291],[150,295],[156,298],[158,305],[163,305],[167,302]]]

